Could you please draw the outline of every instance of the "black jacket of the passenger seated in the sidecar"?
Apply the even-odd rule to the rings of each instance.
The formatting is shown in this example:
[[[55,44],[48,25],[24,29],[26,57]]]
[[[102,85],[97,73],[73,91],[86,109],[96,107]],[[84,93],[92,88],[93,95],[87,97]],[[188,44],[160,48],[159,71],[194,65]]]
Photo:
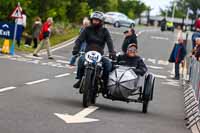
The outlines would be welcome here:
[[[117,63],[119,65],[135,67],[133,71],[137,75],[143,76],[147,72],[147,67],[139,56],[128,57],[127,55],[119,55],[117,57]]]

